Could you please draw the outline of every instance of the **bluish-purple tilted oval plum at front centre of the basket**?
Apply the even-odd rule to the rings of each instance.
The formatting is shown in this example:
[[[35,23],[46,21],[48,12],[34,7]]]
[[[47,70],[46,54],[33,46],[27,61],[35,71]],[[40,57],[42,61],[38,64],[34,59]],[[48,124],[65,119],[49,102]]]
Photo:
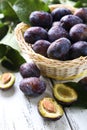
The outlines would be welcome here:
[[[60,38],[48,47],[47,55],[49,58],[63,60],[69,52],[71,46],[70,40],[67,38]]]

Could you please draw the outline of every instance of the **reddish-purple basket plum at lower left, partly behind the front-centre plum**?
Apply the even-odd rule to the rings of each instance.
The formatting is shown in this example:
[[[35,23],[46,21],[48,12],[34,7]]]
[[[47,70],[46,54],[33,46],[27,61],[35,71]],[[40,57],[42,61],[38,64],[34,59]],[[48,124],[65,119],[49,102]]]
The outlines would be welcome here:
[[[47,49],[51,43],[46,40],[38,40],[32,45],[32,49],[43,56],[47,56]]]

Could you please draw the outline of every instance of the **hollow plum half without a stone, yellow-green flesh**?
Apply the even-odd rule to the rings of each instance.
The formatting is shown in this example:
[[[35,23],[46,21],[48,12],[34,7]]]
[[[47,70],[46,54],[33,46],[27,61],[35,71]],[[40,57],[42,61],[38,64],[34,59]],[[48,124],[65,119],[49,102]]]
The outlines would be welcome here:
[[[65,84],[56,84],[53,87],[53,95],[55,99],[64,106],[71,105],[77,101],[78,98],[77,92]]]

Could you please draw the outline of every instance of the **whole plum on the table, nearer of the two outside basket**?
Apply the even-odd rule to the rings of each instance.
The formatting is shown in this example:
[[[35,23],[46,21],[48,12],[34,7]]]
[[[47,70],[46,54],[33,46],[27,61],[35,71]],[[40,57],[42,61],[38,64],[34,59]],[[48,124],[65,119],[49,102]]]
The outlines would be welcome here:
[[[19,84],[20,90],[28,96],[38,96],[46,89],[46,83],[37,77],[24,78]]]

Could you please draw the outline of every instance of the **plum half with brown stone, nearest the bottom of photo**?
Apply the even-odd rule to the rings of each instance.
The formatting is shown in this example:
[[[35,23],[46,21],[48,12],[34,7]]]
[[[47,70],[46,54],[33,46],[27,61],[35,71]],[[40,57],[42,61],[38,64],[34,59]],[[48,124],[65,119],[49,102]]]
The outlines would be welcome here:
[[[63,116],[63,108],[53,98],[44,97],[38,103],[40,115],[46,119],[58,120]]]

